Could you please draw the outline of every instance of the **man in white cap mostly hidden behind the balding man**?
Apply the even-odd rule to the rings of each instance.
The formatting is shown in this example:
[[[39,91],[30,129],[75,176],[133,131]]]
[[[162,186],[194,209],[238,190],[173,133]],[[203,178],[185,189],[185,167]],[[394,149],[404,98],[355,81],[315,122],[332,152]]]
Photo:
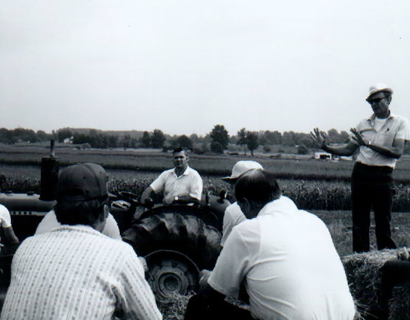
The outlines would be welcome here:
[[[235,186],[236,180],[238,180],[238,178],[243,173],[251,169],[263,170],[262,166],[256,161],[241,160],[241,161],[238,161],[233,166],[232,174],[230,176],[222,178],[222,180],[229,182],[229,184],[231,185],[231,195],[232,195],[232,198],[235,200],[235,202],[233,202],[227,207],[223,215],[221,246],[223,246],[223,244],[227,241],[228,236],[232,231],[232,228],[235,225],[247,219],[245,215],[242,213],[242,211],[240,210],[238,203],[236,202],[234,186]]]

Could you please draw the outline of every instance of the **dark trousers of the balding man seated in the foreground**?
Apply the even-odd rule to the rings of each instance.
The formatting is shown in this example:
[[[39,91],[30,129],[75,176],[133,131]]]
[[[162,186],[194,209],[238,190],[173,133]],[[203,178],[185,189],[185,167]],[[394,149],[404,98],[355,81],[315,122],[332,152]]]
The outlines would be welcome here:
[[[254,320],[248,310],[223,300],[206,300],[201,294],[191,296],[184,320]]]

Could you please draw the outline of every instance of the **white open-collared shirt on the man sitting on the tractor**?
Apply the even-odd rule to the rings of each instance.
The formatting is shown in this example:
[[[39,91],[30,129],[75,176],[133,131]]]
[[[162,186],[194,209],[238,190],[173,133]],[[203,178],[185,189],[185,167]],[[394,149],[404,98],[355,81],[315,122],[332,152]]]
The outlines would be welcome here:
[[[163,171],[150,187],[155,193],[163,191],[164,198],[190,195],[201,200],[202,178],[189,166],[179,177],[173,168]]]

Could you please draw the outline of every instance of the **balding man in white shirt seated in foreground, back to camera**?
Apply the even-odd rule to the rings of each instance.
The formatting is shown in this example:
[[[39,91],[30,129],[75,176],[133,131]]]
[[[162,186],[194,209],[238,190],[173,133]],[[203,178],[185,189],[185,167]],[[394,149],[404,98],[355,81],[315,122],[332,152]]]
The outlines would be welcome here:
[[[185,319],[352,320],[355,307],[343,265],[323,221],[281,197],[272,173],[250,170],[235,185],[247,220],[236,225]],[[250,310],[237,298],[244,281]]]

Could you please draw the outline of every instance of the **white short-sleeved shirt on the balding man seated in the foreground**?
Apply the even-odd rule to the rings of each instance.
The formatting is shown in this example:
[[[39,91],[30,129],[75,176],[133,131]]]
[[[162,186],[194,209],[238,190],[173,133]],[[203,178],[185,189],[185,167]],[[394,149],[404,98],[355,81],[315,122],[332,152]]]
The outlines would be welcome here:
[[[352,320],[355,315],[325,224],[286,197],[233,228],[208,283],[235,298],[242,280],[256,319]]]

